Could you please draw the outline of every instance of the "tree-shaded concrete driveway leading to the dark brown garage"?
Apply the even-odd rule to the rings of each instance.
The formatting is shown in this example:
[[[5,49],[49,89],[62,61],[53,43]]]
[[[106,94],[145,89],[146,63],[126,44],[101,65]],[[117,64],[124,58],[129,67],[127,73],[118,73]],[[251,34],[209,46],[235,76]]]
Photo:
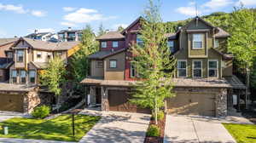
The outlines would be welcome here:
[[[90,129],[80,143],[142,143],[150,119],[148,114],[129,112],[84,110],[81,114],[100,115],[102,119]]]

